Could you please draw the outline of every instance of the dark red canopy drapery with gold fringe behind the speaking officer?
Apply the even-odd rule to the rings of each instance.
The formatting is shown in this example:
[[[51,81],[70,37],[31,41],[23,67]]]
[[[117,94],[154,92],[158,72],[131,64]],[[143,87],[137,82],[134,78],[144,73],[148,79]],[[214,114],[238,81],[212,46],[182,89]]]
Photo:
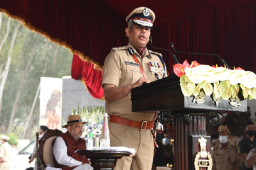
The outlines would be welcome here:
[[[138,6],[149,7],[156,14],[151,30],[154,47],[171,49],[170,43],[174,42],[178,51],[218,54],[230,67],[256,71],[255,0],[0,0],[0,11],[64,45],[74,53],[74,60],[78,60],[78,55],[100,71],[112,47],[127,45],[125,17]],[[171,74],[175,62],[170,52],[155,50],[150,43],[147,47],[164,55]],[[200,64],[223,66],[215,56],[174,54],[179,62],[196,60]],[[93,69],[87,64],[79,67],[80,77],[87,77],[91,73],[88,69]],[[102,90],[95,89],[95,94],[98,91]]]

